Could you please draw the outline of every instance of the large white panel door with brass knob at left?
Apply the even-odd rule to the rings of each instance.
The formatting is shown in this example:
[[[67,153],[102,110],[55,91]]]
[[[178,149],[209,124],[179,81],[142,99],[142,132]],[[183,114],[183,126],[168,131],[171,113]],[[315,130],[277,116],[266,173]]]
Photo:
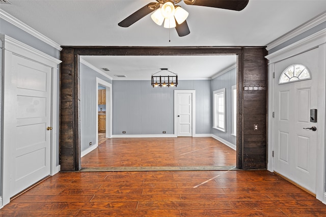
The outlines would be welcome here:
[[[51,68],[13,55],[10,195],[50,174]]]

